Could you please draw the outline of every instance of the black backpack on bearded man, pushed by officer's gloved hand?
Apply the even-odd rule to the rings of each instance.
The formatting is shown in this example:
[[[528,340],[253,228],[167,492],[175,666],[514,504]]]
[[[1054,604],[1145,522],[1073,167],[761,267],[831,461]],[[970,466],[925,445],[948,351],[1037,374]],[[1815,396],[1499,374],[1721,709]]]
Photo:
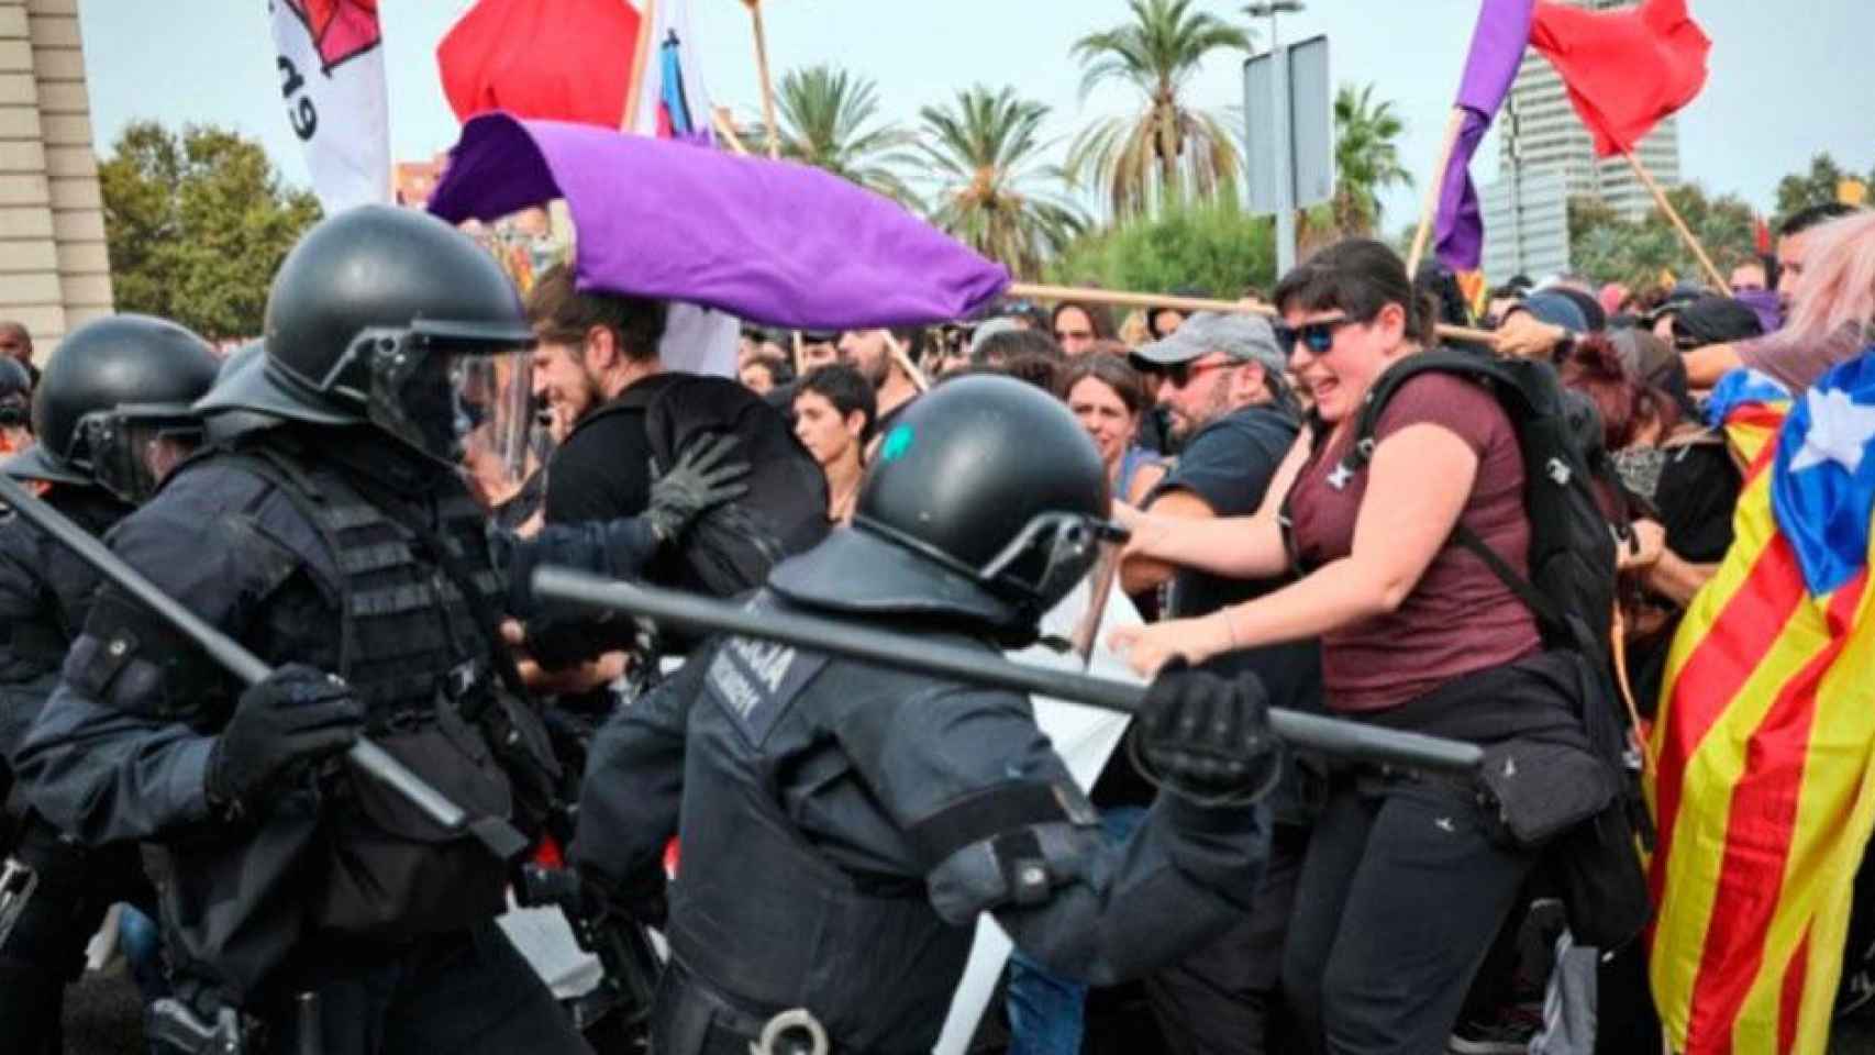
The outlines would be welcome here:
[[[788,418],[726,377],[675,375],[634,384],[604,414],[645,416],[652,474],[662,474],[699,437],[733,435],[754,465],[748,495],[703,513],[675,557],[652,564],[662,587],[729,598],[759,588],[782,558],[827,538],[827,474]]]

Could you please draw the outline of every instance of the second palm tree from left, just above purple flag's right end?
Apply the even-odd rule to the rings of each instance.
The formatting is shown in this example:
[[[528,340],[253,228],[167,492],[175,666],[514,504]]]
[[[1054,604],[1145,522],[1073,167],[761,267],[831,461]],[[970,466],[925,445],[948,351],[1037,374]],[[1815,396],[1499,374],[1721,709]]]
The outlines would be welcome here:
[[[1016,97],[1014,88],[981,84],[958,92],[954,103],[919,111],[919,148],[938,184],[932,223],[1024,277],[1086,229],[1067,199],[1037,186],[1061,178],[1037,159],[1048,146],[1039,137],[1046,116],[1048,107]]]

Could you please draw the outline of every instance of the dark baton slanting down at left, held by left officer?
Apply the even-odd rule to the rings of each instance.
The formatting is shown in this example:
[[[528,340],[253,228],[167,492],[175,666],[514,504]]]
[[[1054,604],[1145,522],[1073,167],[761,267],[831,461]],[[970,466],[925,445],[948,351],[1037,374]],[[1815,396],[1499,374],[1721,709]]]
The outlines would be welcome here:
[[[210,626],[202,617],[186,609],[176,598],[159,590],[156,583],[126,564],[122,557],[111,553],[111,547],[92,538],[90,532],[66,519],[64,513],[4,472],[0,472],[0,502],[6,502],[60,545],[77,553],[79,558],[135,598],[137,603],[163,617],[165,622],[182,632],[184,637],[193,641],[210,660],[221,663],[242,684],[253,686],[274,673],[259,656]],[[371,740],[360,736],[345,751],[345,761],[358,766],[366,776],[382,781],[442,828],[474,836],[476,841],[501,860],[514,862],[527,853],[529,841],[514,825],[501,817],[469,817],[461,806],[450,802],[435,787],[429,787],[424,778],[405,768],[403,763]]]

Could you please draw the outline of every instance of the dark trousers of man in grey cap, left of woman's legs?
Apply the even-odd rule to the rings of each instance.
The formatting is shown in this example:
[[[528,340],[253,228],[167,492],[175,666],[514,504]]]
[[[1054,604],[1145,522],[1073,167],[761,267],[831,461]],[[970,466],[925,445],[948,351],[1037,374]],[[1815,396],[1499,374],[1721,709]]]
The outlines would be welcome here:
[[[1146,978],[1153,1021],[1172,1055],[1294,1051],[1282,1001],[1282,943],[1309,828],[1277,825],[1251,911],[1215,944]]]

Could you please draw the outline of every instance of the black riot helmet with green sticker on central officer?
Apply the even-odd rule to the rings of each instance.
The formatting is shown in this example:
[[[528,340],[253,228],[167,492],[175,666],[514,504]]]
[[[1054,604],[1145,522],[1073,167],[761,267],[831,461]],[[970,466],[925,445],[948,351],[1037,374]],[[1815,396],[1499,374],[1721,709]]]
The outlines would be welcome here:
[[[776,566],[782,596],[855,615],[928,615],[1033,635],[1123,532],[1106,467],[1059,401],[1009,377],[922,395],[879,440],[851,527]]]

